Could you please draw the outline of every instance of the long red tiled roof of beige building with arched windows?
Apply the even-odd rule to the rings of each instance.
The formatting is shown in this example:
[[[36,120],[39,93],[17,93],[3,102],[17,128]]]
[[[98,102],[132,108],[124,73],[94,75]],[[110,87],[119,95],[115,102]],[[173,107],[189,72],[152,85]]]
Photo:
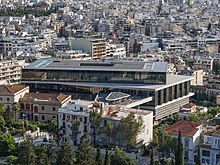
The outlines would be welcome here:
[[[20,98],[19,101],[23,102],[32,102],[33,100],[47,100],[52,102],[61,103],[67,99],[70,95],[64,94],[50,94],[50,93],[26,93],[23,98]]]

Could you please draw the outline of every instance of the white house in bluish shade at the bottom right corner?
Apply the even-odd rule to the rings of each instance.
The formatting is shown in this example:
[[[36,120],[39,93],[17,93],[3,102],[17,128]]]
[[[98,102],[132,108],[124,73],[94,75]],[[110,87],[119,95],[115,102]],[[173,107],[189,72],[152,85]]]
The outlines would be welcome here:
[[[220,165],[220,130],[208,131],[200,145],[202,164]]]

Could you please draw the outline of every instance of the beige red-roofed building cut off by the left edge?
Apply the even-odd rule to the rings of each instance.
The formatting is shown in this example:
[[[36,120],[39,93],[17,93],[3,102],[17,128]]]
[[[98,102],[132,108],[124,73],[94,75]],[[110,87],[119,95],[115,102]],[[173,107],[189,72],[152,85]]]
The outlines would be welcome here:
[[[29,87],[22,85],[1,85],[0,103],[10,107],[12,103],[18,102],[26,93],[29,93]]]

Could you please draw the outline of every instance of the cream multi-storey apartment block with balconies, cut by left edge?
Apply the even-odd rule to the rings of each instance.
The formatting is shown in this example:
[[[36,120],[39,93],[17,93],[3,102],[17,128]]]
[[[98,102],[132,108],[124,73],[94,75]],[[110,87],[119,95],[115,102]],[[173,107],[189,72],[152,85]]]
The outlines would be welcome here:
[[[25,66],[25,61],[0,61],[0,85],[14,84],[21,79],[21,69]]]

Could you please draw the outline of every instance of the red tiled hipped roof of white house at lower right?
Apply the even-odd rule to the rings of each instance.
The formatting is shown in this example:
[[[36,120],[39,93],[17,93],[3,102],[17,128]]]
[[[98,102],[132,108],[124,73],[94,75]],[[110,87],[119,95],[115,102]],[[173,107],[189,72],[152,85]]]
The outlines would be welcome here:
[[[199,130],[197,127],[200,125],[201,124],[198,122],[178,121],[164,129],[163,132],[178,135],[180,131],[182,136],[194,136],[196,132]]]

